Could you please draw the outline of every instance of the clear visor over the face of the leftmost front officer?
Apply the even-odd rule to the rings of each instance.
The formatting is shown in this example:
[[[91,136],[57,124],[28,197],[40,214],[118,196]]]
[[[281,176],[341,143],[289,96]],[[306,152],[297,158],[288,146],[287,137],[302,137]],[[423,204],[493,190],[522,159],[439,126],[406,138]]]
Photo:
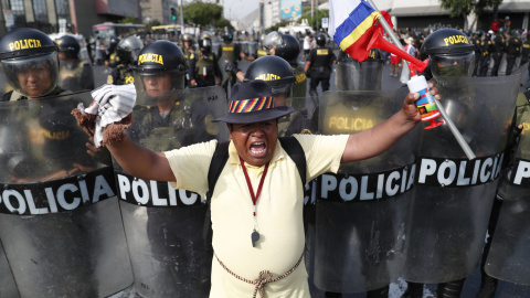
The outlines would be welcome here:
[[[28,97],[40,97],[51,93],[57,85],[57,53],[24,56],[1,61],[9,84]]]

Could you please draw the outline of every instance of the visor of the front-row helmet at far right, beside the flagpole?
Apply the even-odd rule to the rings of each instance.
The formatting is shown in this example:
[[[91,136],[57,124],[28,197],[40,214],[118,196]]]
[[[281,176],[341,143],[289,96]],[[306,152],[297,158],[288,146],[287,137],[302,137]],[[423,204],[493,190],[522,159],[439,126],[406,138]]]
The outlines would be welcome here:
[[[463,55],[433,55],[433,76],[471,76],[475,66],[475,52]]]

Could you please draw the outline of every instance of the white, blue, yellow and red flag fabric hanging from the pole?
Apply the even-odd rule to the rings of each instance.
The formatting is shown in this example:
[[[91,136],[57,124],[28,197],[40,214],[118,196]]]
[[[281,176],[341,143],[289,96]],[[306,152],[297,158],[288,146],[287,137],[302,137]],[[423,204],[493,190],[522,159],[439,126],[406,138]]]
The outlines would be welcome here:
[[[370,39],[382,30],[378,22],[381,14],[364,0],[330,0],[329,4],[328,34],[352,58],[365,61],[370,54]],[[391,24],[390,15],[384,17]]]

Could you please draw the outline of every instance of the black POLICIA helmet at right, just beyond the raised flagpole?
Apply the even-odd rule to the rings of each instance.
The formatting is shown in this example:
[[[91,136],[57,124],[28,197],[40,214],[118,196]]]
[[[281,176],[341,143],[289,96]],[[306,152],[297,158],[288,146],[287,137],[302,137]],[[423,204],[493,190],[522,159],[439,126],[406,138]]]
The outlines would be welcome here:
[[[470,76],[475,45],[460,31],[441,29],[431,33],[422,44],[420,58],[431,58],[431,73],[439,76]]]

